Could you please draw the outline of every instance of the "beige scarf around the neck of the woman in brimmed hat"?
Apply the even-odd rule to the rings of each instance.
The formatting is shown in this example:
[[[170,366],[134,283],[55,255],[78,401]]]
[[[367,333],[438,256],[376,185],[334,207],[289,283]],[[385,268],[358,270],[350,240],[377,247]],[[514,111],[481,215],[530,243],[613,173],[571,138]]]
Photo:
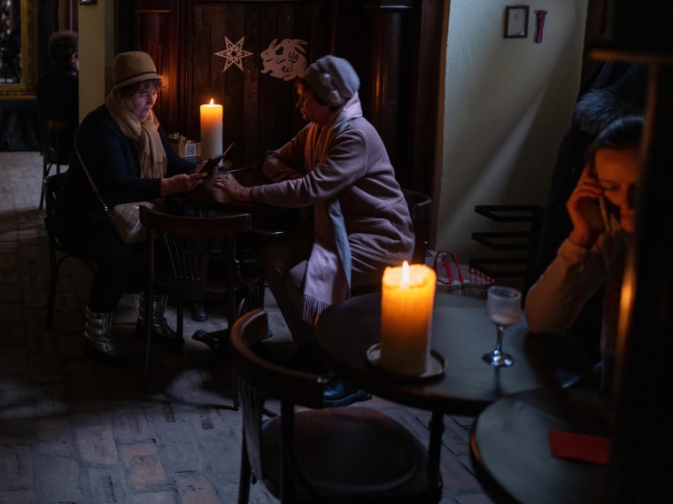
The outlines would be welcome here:
[[[140,176],[142,178],[163,178],[166,176],[166,151],[159,136],[159,120],[150,110],[148,116],[139,120],[134,112],[121,105],[120,98],[112,91],[105,99],[105,106],[112,119],[120,126],[122,133],[130,138],[138,153]]]

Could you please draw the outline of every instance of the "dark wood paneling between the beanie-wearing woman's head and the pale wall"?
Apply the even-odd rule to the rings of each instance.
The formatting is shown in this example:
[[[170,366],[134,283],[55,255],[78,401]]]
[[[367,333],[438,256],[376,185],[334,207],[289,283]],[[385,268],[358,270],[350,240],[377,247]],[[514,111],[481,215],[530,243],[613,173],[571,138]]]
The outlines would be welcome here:
[[[431,195],[448,3],[334,0],[331,9],[329,48],[350,59],[360,74],[365,116],[383,132],[398,181]],[[398,54],[396,70],[384,67],[391,53]],[[378,74],[379,67],[387,76]]]

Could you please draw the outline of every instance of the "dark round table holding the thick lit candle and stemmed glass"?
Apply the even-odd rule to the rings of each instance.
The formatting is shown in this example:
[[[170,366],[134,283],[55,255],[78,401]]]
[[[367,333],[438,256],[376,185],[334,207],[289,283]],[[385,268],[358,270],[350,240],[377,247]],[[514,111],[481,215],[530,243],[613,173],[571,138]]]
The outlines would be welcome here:
[[[330,306],[318,321],[317,343],[337,373],[386,399],[459,415],[475,415],[514,392],[559,385],[560,376],[587,372],[589,361],[570,337],[529,333],[522,316],[507,330],[503,350],[514,366],[493,368],[482,354],[496,343],[496,329],[482,299],[437,291],[430,345],[445,360],[435,378],[395,379],[367,360],[381,341],[381,295],[366,294]]]

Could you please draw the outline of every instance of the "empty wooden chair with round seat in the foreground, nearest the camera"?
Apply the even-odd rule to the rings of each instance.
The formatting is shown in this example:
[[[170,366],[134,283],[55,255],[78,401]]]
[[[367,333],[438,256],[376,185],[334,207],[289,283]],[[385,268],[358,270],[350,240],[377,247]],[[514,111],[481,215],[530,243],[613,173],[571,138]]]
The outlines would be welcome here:
[[[254,352],[267,328],[266,312],[256,309],[231,331],[243,407],[238,504],[248,502],[251,477],[281,502],[438,502],[441,478],[430,477],[419,440],[369,407],[323,409],[327,377],[283,368]],[[267,417],[267,399],[280,401],[281,415]],[[312,409],[295,412],[296,406]]]

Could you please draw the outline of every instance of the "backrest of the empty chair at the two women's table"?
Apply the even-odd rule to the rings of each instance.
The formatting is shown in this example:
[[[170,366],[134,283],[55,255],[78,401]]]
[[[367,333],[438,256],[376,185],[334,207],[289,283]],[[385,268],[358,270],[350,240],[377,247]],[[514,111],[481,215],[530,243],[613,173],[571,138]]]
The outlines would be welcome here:
[[[245,233],[252,229],[250,213],[236,213],[220,217],[183,217],[140,209],[140,221],[148,236],[147,240],[147,282],[152,285],[159,280],[167,290],[179,299],[193,301],[203,299],[208,289],[208,266],[214,245],[221,239]],[[156,242],[162,243],[163,255],[156,253]],[[231,240],[229,240],[231,241]],[[233,241],[225,247],[225,252],[235,257]],[[157,260],[165,260],[161,268]],[[230,282],[234,282],[233,260],[229,272]],[[159,277],[157,276],[159,272]]]

